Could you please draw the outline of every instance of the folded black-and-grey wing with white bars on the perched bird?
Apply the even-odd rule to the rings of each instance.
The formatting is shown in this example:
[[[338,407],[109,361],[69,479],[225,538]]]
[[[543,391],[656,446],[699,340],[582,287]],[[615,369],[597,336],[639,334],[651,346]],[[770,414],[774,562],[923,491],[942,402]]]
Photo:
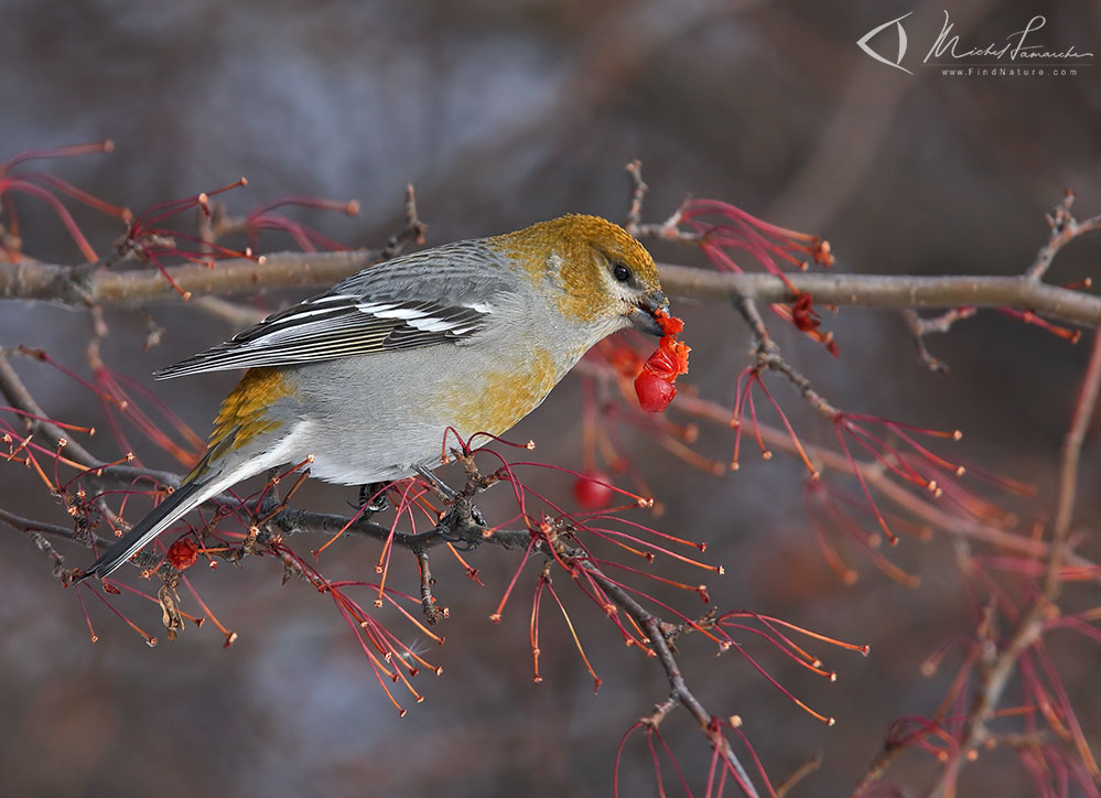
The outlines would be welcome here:
[[[484,261],[460,258],[456,263],[454,254],[444,257],[447,249],[365,269],[154,377],[288,366],[467,339],[483,328],[501,289],[486,279]]]

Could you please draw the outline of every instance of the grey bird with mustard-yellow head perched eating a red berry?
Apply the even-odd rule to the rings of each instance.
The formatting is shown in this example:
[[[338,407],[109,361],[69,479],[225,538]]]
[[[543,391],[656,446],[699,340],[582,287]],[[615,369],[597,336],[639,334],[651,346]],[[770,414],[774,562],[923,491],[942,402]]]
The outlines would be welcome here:
[[[618,225],[569,215],[364,269],[154,375],[248,369],[206,454],[84,573],[102,579],[212,496],[313,456],[312,476],[386,483],[440,464],[444,431],[499,435],[593,345],[661,335],[654,259]]]

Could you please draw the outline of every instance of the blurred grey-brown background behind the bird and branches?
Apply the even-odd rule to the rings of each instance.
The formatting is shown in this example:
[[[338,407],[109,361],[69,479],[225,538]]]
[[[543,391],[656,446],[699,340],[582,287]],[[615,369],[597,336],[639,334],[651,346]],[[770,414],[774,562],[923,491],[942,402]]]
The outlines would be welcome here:
[[[358,219],[291,215],[348,246],[378,246],[400,225],[407,183],[417,186],[429,244],[566,212],[622,219],[624,164],[638,158],[651,186],[647,220],[663,219],[686,195],[714,197],[827,236],[841,270],[1016,274],[1045,240],[1044,214],[1065,187],[1078,191],[1082,217],[1101,213],[1099,67],[1061,77],[943,76],[920,58],[945,8],[918,0],[0,0],[0,159],[111,138],[112,154],[46,168],[136,211],[242,174],[248,187],[225,197],[231,212],[287,194],[354,197]],[[1038,2],[949,0],[947,8],[964,42],[1001,40],[1046,13],[1037,43],[1101,48],[1097,3],[1053,11]],[[905,65],[913,75],[860,52],[865,32],[909,11]],[[896,44],[884,35],[877,50],[893,55]],[[18,207],[26,252],[80,260],[41,203]],[[120,231],[75,213],[100,250]],[[654,251],[699,262],[683,250]],[[1095,273],[1099,255],[1101,236],[1073,242],[1050,280]],[[246,299],[276,308],[295,296]],[[691,381],[731,402],[747,362],[741,322],[719,305],[680,302],[677,312],[693,346]],[[165,330],[159,347],[143,352],[143,322],[125,310],[108,313],[104,346],[110,366],[149,386],[154,368],[234,332],[171,298],[150,313]],[[855,412],[963,430],[953,456],[1038,488],[1033,503],[1006,499],[1022,525],[1048,510],[1084,345],[984,313],[930,338],[951,366],[945,376],[917,362],[895,313],[845,310],[825,323],[841,347],[836,363],[774,326],[828,398]],[[0,305],[0,346],[44,347],[84,376],[87,334],[85,314]],[[96,422],[94,402],[69,379],[39,364],[17,366],[55,418]],[[153,390],[205,435],[233,379],[207,375]],[[776,382],[774,393],[806,440],[829,443],[832,430],[811,423],[787,386]],[[580,381],[568,380],[512,436],[535,439],[544,461],[580,468],[581,402]],[[725,565],[725,578],[710,580],[719,606],[872,646],[868,659],[828,653],[839,671],[834,684],[752,646],[796,694],[836,716],[825,729],[734,655],[716,660],[709,646],[683,645],[701,698],[743,718],[775,779],[821,752],[821,772],[795,795],[848,795],[888,724],[931,714],[945,694],[953,666],[922,678],[921,659],[973,630],[953,542],[909,538],[889,552],[921,576],[917,590],[856,556],[862,579],[845,586],[814,543],[796,463],[763,462],[747,447],[740,472],[713,477],[646,435],[623,436],[633,467],[665,504],[652,522],[705,540],[709,560]],[[703,439],[704,454],[728,461],[728,431]],[[94,443],[104,457],[119,454],[107,434]],[[148,465],[180,468],[144,445]],[[1084,453],[1082,524],[1101,511],[1098,453],[1094,439]],[[571,481],[542,476],[538,484],[568,496]],[[311,484],[299,497],[339,511],[354,492]],[[487,511],[503,500],[488,498]],[[66,522],[41,483],[11,467],[0,473],[0,506]],[[410,712],[399,720],[332,603],[301,583],[281,586],[282,569],[270,559],[251,559],[240,573],[194,573],[207,603],[240,635],[233,647],[223,649],[206,626],[149,649],[101,605],[89,605],[99,634],[91,645],[74,592],[50,576],[48,560],[11,531],[0,547],[0,770],[9,795],[605,796],[620,735],[667,692],[654,664],[625,650],[600,613],[572,596],[604,679],[600,694],[546,604],[544,680],[532,684],[527,625],[537,571],[529,568],[505,619],[490,624],[516,563],[498,551],[472,554],[486,587],[436,557],[438,595],[451,608],[442,626],[447,644],[423,648],[444,675],[420,677],[427,700],[404,701]],[[1083,552],[1101,557],[1095,540]],[[90,560],[74,547],[62,553],[71,565]],[[363,576],[377,556],[376,547],[342,541],[322,565],[334,576]],[[667,573],[699,581],[687,568]],[[395,574],[415,589],[411,563]],[[154,604],[118,601],[147,628],[158,627]],[[1095,747],[1098,649],[1070,639],[1054,645]],[[698,732],[676,713],[662,729],[681,765],[700,774],[708,752]],[[1027,792],[1012,761],[986,755],[967,772],[961,792]],[[656,795],[640,737],[628,744],[622,772],[622,795]],[[905,795],[924,795],[935,768],[909,754],[894,775]]]

